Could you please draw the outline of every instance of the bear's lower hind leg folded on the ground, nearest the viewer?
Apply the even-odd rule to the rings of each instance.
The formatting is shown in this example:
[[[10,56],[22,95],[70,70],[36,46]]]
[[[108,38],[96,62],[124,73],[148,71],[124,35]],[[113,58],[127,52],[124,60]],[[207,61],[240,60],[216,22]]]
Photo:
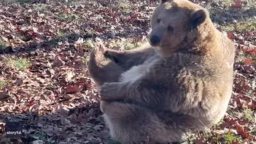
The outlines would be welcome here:
[[[156,114],[146,108],[134,104],[101,101],[101,111],[110,129],[110,136],[121,143],[145,142],[146,139],[151,143],[177,140],[171,137],[178,133],[168,129]]]

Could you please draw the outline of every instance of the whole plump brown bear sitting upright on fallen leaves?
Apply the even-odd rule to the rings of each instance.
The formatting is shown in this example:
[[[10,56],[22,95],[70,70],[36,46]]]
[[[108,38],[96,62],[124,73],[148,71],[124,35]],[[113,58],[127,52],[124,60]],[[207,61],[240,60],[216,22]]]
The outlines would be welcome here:
[[[127,51],[100,44],[91,53],[89,72],[104,120],[122,143],[181,141],[219,122],[232,94],[235,45],[206,9],[187,0],[162,1],[151,27],[149,37],[159,43]]]

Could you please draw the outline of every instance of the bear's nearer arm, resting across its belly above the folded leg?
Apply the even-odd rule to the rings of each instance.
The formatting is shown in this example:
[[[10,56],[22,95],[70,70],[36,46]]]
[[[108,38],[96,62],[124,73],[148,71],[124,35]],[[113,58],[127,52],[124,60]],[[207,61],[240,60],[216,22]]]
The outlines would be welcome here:
[[[162,109],[169,94],[177,88],[172,86],[169,76],[170,69],[155,66],[140,78],[125,82],[104,83],[100,88],[103,101],[129,101],[144,104],[146,107]],[[171,85],[170,85],[171,84]],[[174,86],[174,85],[173,85]]]

